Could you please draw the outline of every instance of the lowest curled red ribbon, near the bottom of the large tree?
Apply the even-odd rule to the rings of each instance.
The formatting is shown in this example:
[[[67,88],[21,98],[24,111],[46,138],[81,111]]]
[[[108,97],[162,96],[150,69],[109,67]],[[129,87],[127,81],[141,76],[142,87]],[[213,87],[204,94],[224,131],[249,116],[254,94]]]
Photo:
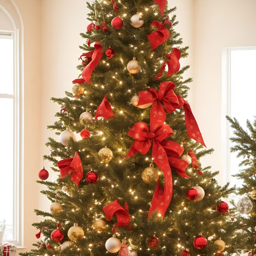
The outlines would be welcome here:
[[[106,220],[108,221],[112,220],[114,214],[117,216],[117,227],[124,228],[130,223],[130,214],[121,207],[119,200],[104,206],[103,211],[106,213]]]

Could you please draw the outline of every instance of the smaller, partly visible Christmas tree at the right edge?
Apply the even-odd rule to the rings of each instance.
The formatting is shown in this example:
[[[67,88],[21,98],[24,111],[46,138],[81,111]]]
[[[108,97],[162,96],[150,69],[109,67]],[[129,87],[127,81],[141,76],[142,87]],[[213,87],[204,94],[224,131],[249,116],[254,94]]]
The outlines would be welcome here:
[[[236,118],[227,117],[227,119],[234,134],[230,138],[234,143],[231,152],[237,152],[238,157],[243,157],[239,165],[243,169],[234,175],[240,183],[237,192],[241,196],[236,205],[240,212],[237,217],[247,236],[243,249],[249,250],[254,255],[256,252],[256,204],[254,201],[256,200],[256,120],[253,124],[247,120],[248,130],[245,130]]]

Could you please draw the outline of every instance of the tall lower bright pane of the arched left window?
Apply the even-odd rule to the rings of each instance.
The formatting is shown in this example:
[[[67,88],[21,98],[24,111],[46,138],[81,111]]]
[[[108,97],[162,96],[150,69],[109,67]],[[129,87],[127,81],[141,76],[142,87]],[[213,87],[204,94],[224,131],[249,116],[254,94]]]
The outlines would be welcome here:
[[[10,240],[13,239],[13,99],[0,98],[0,109],[0,194],[4,200],[0,221],[6,220],[4,240]]]

